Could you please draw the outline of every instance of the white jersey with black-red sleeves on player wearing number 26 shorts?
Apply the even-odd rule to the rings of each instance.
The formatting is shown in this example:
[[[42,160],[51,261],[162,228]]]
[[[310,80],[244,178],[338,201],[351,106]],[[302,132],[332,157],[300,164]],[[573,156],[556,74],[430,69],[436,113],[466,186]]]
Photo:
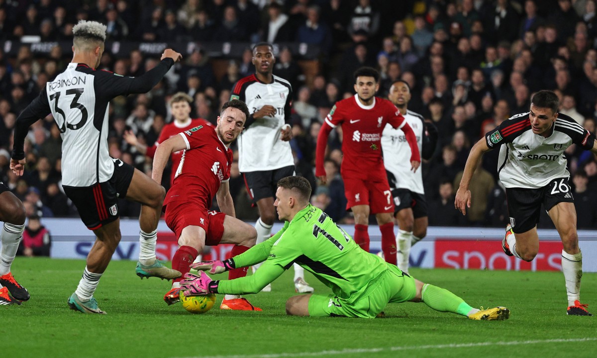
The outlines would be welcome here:
[[[534,134],[528,112],[485,134],[489,148],[501,146],[498,173],[506,188],[543,188],[553,179],[567,178],[564,151],[573,143],[591,149],[594,139],[594,134],[564,114],[558,114],[549,137]]]

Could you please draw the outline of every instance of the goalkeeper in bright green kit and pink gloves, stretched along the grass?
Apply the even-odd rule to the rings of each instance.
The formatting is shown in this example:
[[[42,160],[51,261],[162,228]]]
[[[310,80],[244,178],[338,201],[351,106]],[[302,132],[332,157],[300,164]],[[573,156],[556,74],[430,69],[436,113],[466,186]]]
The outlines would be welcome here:
[[[207,293],[258,293],[295,262],[330,287],[329,295],[293,296],[286,313],[293,316],[374,318],[388,303],[424,302],[433,310],[452,312],[474,320],[504,320],[505,307],[478,310],[448,290],[426,284],[365,252],[322,210],[309,203],[311,186],[300,176],[279,180],[274,206],[285,221],[277,234],[247,252],[226,261],[192,264],[200,275],[186,274],[181,290],[187,296]],[[211,280],[203,271],[223,273],[263,262],[252,275],[234,280]]]

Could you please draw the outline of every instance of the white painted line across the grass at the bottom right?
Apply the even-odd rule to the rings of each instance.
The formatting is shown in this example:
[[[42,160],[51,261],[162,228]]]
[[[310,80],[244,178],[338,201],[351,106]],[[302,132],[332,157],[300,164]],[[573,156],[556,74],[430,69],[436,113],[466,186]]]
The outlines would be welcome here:
[[[454,344],[436,344],[436,345],[405,345],[405,346],[402,346],[402,347],[386,347],[386,348],[355,348],[355,349],[325,350],[325,351],[318,351],[318,352],[297,352],[297,353],[233,354],[233,355],[230,355],[230,356],[193,356],[193,357],[184,357],[184,358],[289,358],[289,357],[316,357],[316,356],[336,356],[338,354],[381,353],[381,352],[392,352],[392,351],[402,351],[402,350],[443,349],[443,348],[469,348],[469,347],[487,347],[487,346],[491,346],[491,345],[526,345],[526,344],[588,342],[588,341],[597,341],[597,337],[570,338],[570,339],[564,339],[564,338],[557,338],[557,339],[534,339],[534,340],[531,340],[531,341],[454,343]]]

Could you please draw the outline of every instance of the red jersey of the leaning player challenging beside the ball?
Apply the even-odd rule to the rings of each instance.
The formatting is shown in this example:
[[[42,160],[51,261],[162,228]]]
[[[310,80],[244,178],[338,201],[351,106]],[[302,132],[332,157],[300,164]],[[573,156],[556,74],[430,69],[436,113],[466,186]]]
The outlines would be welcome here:
[[[209,209],[220,184],[230,179],[232,149],[224,145],[213,127],[198,126],[179,135],[184,138],[187,148],[164,206],[172,201],[192,201]]]

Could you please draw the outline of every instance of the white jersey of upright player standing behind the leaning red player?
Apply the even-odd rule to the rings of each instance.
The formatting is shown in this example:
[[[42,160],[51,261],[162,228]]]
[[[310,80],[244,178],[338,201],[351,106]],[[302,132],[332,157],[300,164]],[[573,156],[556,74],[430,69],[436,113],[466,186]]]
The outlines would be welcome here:
[[[260,82],[255,75],[242,78],[235,84],[231,99],[247,103],[251,114],[264,105],[276,109],[273,117],[257,118],[238,137],[238,169],[242,173],[294,165],[290,142],[280,139],[280,130],[286,118],[290,117],[292,96],[290,82],[275,75],[269,84]]]

